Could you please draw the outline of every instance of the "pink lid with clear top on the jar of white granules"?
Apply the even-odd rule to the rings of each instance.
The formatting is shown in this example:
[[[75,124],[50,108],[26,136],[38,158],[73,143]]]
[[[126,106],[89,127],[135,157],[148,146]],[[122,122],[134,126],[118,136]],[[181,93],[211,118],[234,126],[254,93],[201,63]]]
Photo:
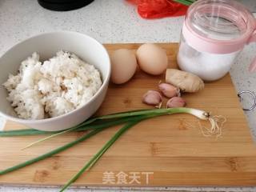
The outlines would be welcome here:
[[[190,6],[182,27],[194,49],[228,54],[256,41],[256,20],[246,7],[232,0],[198,0]]]

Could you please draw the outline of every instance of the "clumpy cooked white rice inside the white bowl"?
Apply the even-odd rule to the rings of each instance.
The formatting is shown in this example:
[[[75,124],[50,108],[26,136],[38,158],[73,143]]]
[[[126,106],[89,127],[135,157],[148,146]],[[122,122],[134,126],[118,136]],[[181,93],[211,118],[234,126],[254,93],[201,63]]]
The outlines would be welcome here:
[[[37,53],[32,54],[3,86],[19,118],[42,119],[83,106],[102,86],[102,80],[93,65],[60,50],[45,62],[39,61]]]

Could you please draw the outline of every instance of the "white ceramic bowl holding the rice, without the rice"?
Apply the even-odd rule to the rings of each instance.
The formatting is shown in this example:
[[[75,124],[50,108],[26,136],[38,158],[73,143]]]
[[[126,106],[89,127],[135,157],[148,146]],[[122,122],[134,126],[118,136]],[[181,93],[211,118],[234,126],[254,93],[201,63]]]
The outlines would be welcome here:
[[[18,118],[13,107],[10,106],[10,102],[6,100],[7,91],[2,83],[6,82],[8,74],[17,74],[21,62],[32,53],[38,52],[40,60],[45,60],[53,57],[58,50],[70,51],[77,54],[82,60],[96,66],[102,74],[101,88],[84,106],[70,113],[42,120]],[[94,114],[105,98],[111,70],[109,55],[101,43],[86,34],[70,31],[39,34],[20,42],[2,55],[0,66],[0,115],[28,127],[46,131],[65,130],[78,125]]]

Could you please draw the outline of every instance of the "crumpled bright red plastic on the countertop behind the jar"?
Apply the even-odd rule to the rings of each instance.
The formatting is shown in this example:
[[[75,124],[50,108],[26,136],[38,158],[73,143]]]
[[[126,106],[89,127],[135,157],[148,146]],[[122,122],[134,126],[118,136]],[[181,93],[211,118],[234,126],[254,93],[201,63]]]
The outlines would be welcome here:
[[[186,14],[188,6],[172,0],[127,0],[138,6],[142,18],[176,17]]]

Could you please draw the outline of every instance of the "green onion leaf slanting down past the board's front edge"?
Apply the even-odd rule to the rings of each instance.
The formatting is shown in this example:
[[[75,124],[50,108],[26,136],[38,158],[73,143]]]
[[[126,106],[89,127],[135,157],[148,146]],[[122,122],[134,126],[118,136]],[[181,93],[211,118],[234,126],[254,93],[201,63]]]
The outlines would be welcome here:
[[[67,182],[66,185],[62,187],[62,190],[60,190],[60,192],[66,190],[66,188],[70,186],[73,182],[75,182],[86,170],[89,170],[92,166],[94,166],[94,164],[98,162],[98,159],[102,157],[102,155],[106,152],[106,150],[108,150],[110,146],[112,146],[114,142],[116,142],[118,138],[120,138],[120,136],[126,132],[126,130],[136,125],[140,121],[142,120],[127,122],[125,126],[122,126],[122,128],[118,130],[118,132],[114,134],[114,136],[110,138],[108,142],[106,142],[105,146],[103,146],[102,149],[99,150],[98,153],[95,154],[93,158],[90,158],[90,161],[87,162],[86,165],[83,166],[81,170],[79,170],[78,174],[75,174],[74,177],[71,178],[70,181]]]

